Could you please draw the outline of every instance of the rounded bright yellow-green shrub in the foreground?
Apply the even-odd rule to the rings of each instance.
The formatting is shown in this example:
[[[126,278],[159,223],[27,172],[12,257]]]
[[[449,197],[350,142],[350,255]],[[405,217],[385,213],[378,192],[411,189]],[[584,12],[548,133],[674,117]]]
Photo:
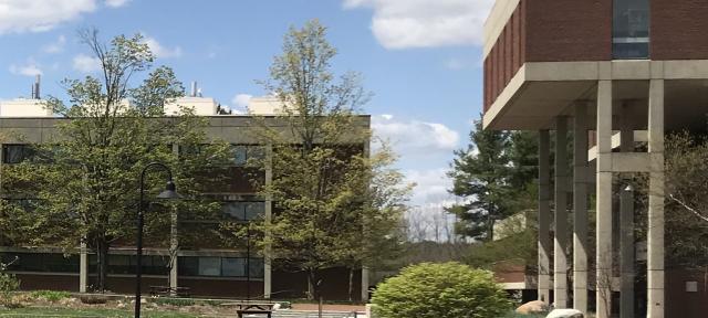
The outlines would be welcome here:
[[[498,318],[511,308],[491,272],[423,263],[382,283],[372,298],[381,318]]]

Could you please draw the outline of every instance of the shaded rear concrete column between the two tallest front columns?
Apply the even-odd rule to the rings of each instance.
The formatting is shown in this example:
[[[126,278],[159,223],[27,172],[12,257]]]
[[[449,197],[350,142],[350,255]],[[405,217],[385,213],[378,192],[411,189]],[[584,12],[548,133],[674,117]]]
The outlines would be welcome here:
[[[620,150],[634,152],[634,128],[628,105],[622,108],[622,130]],[[620,316],[634,317],[634,189],[629,186],[631,174],[622,174],[620,193]]]

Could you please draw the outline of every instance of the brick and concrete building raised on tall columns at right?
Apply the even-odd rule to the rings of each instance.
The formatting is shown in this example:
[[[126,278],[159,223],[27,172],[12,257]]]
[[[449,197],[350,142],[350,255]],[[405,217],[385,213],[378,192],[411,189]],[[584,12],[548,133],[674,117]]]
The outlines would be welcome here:
[[[665,292],[664,137],[705,128],[706,13],[708,3],[693,0],[496,2],[485,25],[483,125],[540,135],[539,299],[594,308],[600,318],[612,308],[638,317],[633,277],[644,273],[634,273],[632,189],[613,184],[642,173],[649,180],[646,317],[688,317]],[[565,150],[571,131],[573,162]],[[627,234],[613,240],[613,226]],[[621,304],[613,305],[613,292]]]

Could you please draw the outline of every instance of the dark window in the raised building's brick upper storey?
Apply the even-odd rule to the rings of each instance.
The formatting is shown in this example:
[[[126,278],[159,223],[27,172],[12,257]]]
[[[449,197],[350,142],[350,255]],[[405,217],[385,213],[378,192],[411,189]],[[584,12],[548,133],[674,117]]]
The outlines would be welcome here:
[[[614,0],[614,59],[649,57],[649,0]]]

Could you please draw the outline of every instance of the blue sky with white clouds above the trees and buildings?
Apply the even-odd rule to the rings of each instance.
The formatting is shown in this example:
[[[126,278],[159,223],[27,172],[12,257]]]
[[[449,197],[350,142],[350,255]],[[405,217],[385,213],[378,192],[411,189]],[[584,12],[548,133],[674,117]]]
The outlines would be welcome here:
[[[374,93],[364,112],[417,182],[415,204],[447,200],[444,172],[481,112],[481,26],[491,0],[0,0],[0,99],[62,96],[60,81],[94,67],[76,30],[104,39],[143,33],[157,64],[188,86],[242,109],[263,95],[290,25],[320,19],[340,54]]]

